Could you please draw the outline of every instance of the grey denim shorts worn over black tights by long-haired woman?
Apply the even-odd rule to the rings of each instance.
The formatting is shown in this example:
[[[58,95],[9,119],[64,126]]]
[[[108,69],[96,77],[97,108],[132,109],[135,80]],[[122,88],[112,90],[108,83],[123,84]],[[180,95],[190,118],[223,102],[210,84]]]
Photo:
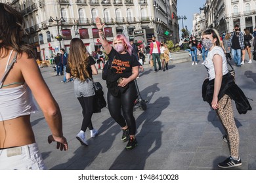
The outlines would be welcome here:
[[[85,80],[85,82],[81,82],[77,79],[74,80],[74,93],[75,97],[91,97],[95,95],[95,88],[93,86],[92,80]]]

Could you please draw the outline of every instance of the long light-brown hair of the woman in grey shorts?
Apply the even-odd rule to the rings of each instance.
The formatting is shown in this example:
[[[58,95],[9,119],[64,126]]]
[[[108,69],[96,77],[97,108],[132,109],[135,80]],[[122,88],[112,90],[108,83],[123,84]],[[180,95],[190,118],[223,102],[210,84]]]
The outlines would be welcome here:
[[[70,54],[68,56],[68,65],[70,66],[71,75],[81,81],[89,78],[87,65],[89,64],[88,54],[85,44],[79,38],[70,41]]]

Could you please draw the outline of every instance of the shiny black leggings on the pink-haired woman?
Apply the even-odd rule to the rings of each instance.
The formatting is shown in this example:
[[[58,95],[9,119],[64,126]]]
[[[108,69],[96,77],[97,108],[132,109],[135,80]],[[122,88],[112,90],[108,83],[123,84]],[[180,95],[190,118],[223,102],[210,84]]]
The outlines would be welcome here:
[[[111,117],[121,127],[125,127],[127,124],[130,135],[135,135],[136,133],[136,123],[133,116],[133,106],[136,97],[137,90],[134,81],[129,83],[129,88],[127,88],[125,93],[121,93],[117,97],[114,97],[108,92],[108,110],[110,111]],[[121,115],[121,108],[123,110],[123,116]]]

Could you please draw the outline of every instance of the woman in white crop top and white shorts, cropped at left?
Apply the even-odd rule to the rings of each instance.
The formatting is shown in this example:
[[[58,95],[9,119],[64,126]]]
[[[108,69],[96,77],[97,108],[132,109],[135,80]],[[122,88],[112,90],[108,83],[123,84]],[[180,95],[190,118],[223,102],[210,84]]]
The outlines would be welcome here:
[[[30,124],[30,114],[37,110],[32,93],[51,129],[48,142],[56,141],[60,150],[68,150],[68,143],[60,108],[41,76],[33,49],[21,41],[22,25],[22,14],[0,3],[0,169],[46,169]]]

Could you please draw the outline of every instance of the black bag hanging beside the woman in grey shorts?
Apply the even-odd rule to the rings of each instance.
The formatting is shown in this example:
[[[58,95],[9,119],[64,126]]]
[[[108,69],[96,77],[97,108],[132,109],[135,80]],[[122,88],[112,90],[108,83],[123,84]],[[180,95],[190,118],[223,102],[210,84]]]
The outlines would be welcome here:
[[[92,80],[93,81],[93,80]],[[100,82],[94,82],[95,96],[93,97],[93,113],[101,112],[101,109],[106,107],[106,100]]]

